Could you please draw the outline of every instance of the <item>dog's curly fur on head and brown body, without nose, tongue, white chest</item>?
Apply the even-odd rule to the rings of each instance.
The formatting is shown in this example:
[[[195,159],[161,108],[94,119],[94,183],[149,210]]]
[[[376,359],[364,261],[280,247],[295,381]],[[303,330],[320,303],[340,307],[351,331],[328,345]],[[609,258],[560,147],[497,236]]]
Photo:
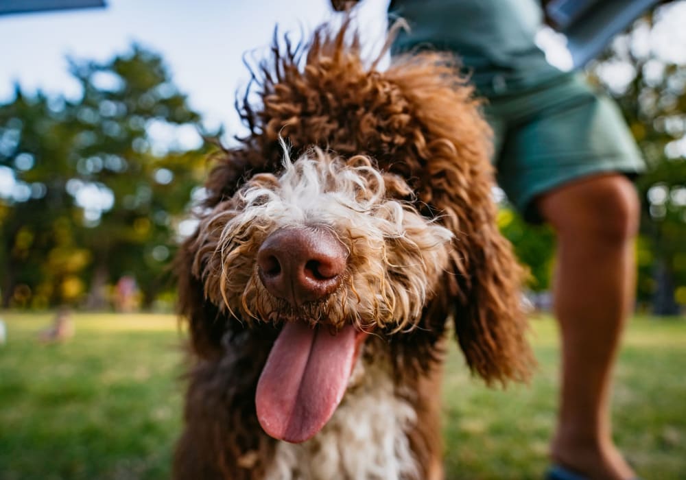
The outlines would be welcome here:
[[[383,352],[398,398],[436,383],[449,318],[487,383],[524,380],[532,366],[523,273],[495,225],[479,101],[440,53],[366,66],[349,23],[307,45],[275,42],[239,104],[250,134],[215,156],[206,211],[177,259],[196,357],[178,478],[270,478],[283,447],[257,423],[255,389],[281,324],[295,318],[375,333],[361,361]],[[265,290],[255,262],[271,232],[292,226],[330,230],[348,250],[340,287],[298,309]],[[407,397],[416,418],[399,424],[419,471],[397,478],[434,475],[435,397]]]

